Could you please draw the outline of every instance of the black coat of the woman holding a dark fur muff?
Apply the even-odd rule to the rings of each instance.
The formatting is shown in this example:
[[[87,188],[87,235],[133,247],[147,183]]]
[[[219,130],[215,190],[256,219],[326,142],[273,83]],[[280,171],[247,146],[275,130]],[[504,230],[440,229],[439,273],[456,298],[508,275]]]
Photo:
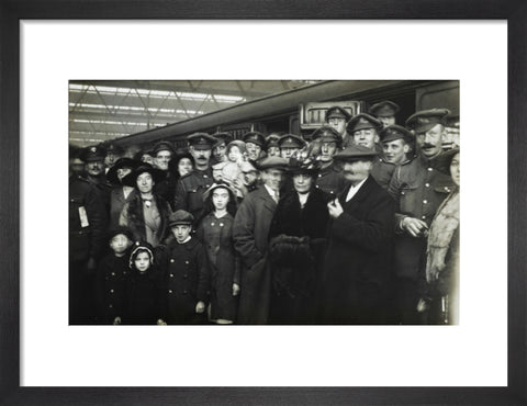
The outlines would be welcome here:
[[[315,286],[324,256],[326,228],[329,219],[328,195],[314,188],[303,208],[296,191],[280,199],[270,228],[271,246],[280,249],[280,235],[307,237],[306,246],[283,247],[284,256],[296,253],[300,258],[274,258],[280,252],[271,250],[273,294],[271,324],[312,324],[315,322]],[[278,237],[278,238],[277,238]],[[302,244],[302,243],[301,243]],[[304,249],[307,252],[304,252]],[[290,262],[294,264],[291,264]],[[289,262],[289,263],[288,263]]]

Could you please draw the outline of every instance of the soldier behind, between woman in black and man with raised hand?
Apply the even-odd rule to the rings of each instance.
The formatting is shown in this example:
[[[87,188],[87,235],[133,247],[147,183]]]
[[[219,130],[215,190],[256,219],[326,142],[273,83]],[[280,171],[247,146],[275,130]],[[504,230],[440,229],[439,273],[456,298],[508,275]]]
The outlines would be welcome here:
[[[317,159],[322,162],[316,178],[316,188],[335,199],[344,189],[344,178],[340,170],[335,166],[333,157],[340,150],[343,139],[335,128],[327,125],[315,129],[311,138],[313,139],[312,144],[317,144],[319,149]]]

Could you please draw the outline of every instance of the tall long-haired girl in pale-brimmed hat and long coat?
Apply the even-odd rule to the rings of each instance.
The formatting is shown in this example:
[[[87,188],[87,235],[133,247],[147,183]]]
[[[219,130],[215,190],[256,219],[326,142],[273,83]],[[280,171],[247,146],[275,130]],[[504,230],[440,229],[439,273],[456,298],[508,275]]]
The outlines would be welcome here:
[[[203,200],[208,214],[197,234],[205,246],[211,269],[211,320],[233,324],[239,292],[239,258],[233,241],[236,195],[227,184],[214,183],[203,193]]]

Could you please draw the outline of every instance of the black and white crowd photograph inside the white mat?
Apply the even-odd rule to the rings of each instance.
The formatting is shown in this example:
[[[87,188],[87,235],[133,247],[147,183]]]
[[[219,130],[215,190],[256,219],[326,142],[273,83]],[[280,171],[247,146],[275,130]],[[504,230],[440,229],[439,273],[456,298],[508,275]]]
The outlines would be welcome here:
[[[69,325],[458,325],[459,80],[68,82]]]

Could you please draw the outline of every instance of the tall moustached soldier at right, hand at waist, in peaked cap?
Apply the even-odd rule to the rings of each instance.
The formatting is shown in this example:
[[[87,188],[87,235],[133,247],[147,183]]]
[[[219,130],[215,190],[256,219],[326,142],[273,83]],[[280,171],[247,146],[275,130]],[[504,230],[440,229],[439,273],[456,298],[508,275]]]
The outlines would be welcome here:
[[[421,324],[417,303],[424,271],[428,227],[452,190],[452,180],[437,170],[442,153],[447,109],[419,111],[406,120],[415,134],[417,156],[397,167],[388,192],[397,202],[395,215],[396,323]]]

